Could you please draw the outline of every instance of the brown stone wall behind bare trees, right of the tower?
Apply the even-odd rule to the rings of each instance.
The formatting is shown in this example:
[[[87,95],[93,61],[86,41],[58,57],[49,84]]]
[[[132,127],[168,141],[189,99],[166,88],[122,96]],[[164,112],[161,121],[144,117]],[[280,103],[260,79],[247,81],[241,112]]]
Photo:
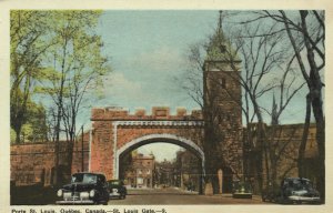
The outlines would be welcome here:
[[[266,133],[265,142],[268,146],[268,155],[265,155],[263,146],[261,145],[259,138],[256,138],[256,124],[251,124],[248,130],[252,131],[253,135],[253,143],[251,148],[245,151],[245,154],[250,152],[246,162],[246,166],[249,166],[249,176],[251,176],[253,180],[258,180],[258,175],[262,175],[263,185],[265,186],[268,184],[265,158],[268,156],[268,159],[270,159],[270,154],[274,154],[275,156],[273,158],[278,159],[275,166],[271,164],[271,161],[269,161],[269,166],[271,170],[276,169],[276,184],[279,184],[284,178],[299,176],[297,160],[299,148],[303,134],[303,124],[284,124],[276,126],[264,125]],[[317,158],[315,132],[315,124],[311,124],[304,155],[304,178],[307,178],[313,182],[316,182],[315,174],[317,172],[316,168],[313,166]],[[271,152],[269,152],[270,150]],[[259,155],[261,155],[261,162],[259,162],[261,165],[255,163]]]

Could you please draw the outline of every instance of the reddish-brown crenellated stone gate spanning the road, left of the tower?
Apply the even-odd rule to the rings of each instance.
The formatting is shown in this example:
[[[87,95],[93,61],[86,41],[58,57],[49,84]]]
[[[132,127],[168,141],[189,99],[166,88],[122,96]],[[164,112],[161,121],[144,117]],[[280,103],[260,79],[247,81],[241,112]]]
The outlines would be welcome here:
[[[107,108],[93,109],[91,120],[91,172],[118,179],[120,155],[153,142],[173,143],[190,150],[201,159],[204,171],[201,111],[188,114],[184,109],[178,109],[176,114],[171,115],[169,108],[160,106],[153,108],[151,114],[145,114],[144,110],[130,114],[124,109]]]

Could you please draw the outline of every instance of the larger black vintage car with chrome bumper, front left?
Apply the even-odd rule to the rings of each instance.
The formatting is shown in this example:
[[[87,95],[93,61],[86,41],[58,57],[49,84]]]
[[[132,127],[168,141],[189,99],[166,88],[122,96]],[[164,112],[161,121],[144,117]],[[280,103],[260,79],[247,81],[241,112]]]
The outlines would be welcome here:
[[[109,189],[103,174],[75,173],[71,183],[58,190],[57,204],[108,204]]]

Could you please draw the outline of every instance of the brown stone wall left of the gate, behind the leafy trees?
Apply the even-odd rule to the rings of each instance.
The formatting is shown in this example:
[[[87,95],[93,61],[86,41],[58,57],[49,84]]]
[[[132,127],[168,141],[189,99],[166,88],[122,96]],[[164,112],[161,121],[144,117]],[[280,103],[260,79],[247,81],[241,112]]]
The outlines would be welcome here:
[[[74,143],[72,173],[81,171],[82,168],[81,144],[81,140]],[[84,171],[88,171],[89,132],[84,133],[83,148]],[[60,170],[64,170],[69,165],[67,161],[67,142],[60,142],[59,153],[59,166]],[[27,143],[10,146],[10,180],[18,186],[31,184],[47,186],[53,184],[54,166],[54,142]]]

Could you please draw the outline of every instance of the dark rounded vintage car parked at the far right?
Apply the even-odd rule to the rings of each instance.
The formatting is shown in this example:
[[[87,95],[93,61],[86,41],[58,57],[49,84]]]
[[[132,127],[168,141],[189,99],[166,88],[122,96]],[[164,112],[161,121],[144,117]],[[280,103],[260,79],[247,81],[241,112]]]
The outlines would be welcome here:
[[[319,191],[309,179],[286,178],[281,182],[283,203],[320,203]]]

